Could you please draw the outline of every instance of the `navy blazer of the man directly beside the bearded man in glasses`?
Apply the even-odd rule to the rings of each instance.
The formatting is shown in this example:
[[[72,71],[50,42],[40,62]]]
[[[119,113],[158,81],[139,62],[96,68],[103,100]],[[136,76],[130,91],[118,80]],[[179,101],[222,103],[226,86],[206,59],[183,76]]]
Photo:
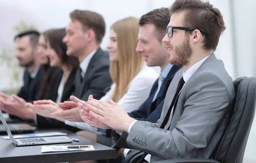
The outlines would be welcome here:
[[[166,79],[163,80],[163,84],[160,87],[159,92],[157,93],[156,99],[153,101],[154,95],[157,92],[158,88],[158,79],[154,82],[151,92],[149,94],[148,99],[140,106],[138,110],[134,110],[133,112],[128,113],[128,115],[132,118],[135,118],[139,121],[150,121],[152,123],[156,123],[160,118],[162,108],[163,108],[163,100],[166,96],[166,92],[172,79],[176,72],[180,69],[180,67],[173,65],[171,70],[169,71]],[[153,101],[153,102],[152,102]]]

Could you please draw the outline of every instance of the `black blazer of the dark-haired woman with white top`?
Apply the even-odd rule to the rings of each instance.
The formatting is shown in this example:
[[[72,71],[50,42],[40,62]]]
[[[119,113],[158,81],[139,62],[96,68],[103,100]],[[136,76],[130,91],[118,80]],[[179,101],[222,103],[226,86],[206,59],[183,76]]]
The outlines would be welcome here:
[[[67,99],[70,98],[70,95],[75,90],[75,76],[76,76],[77,70],[72,70],[70,73],[70,76],[67,79],[66,84],[64,85],[63,94],[61,97],[61,102],[67,101]],[[49,87],[47,89],[47,92],[45,94],[44,99],[56,101],[58,98],[58,87],[61,82],[63,71],[61,69],[56,70],[53,74]],[[65,126],[64,122],[52,119],[52,118],[46,118],[41,115],[36,115],[36,122],[39,127],[42,128],[54,128],[54,127],[64,127],[67,128],[68,126]],[[74,131],[74,128],[70,126],[70,128],[67,128],[71,131]]]

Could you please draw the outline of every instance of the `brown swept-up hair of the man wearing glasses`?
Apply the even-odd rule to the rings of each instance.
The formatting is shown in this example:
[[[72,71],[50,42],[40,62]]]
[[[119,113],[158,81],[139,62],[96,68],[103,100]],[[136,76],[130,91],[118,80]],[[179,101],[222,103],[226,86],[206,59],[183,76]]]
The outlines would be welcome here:
[[[219,38],[226,29],[218,8],[213,7],[209,1],[175,0],[169,11],[170,15],[185,11],[183,25],[205,31],[204,49],[216,50]]]

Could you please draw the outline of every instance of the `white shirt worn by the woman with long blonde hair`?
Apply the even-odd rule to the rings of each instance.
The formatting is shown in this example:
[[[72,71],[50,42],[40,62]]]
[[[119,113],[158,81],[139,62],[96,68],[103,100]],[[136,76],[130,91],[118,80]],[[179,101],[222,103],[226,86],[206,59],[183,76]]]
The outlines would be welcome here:
[[[126,112],[132,112],[139,109],[140,105],[148,98],[151,87],[158,78],[158,73],[151,67],[143,65],[140,72],[132,79],[129,84],[127,92],[117,102]],[[103,96],[100,101],[109,102],[116,84],[111,85],[111,89]],[[68,122],[68,123],[67,123]],[[82,130],[91,131],[97,134],[102,134],[96,127],[90,126],[85,122],[69,122],[65,121],[65,124],[77,127]],[[103,131],[102,131],[103,132]],[[105,132],[103,132],[105,134]]]

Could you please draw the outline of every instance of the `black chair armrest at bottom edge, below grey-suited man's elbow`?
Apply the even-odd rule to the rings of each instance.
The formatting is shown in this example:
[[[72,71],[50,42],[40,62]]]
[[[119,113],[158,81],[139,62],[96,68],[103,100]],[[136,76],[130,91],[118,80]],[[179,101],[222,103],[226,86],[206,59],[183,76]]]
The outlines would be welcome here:
[[[220,162],[216,160],[205,159],[205,158],[179,158],[179,159],[161,160],[154,163],[220,163]]]

